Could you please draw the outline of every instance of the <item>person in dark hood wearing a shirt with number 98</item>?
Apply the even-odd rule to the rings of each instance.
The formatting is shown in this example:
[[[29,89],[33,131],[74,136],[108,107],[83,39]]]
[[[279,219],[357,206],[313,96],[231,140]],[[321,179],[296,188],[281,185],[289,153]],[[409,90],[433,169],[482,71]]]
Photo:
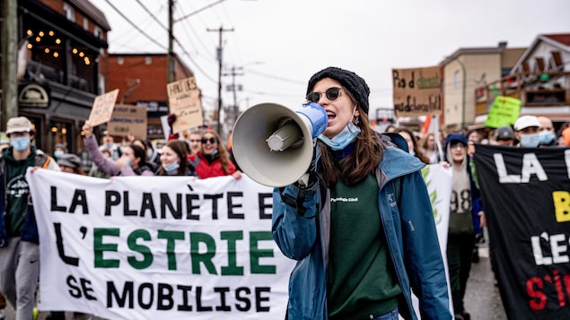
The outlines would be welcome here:
[[[471,270],[476,234],[480,230],[479,217],[483,216],[481,195],[469,165],[468,145],[463,134],[448,134],[445,139],[445,160],[453,170],[447,262],[456,320],[470,318],[463,306],[463,298]]]

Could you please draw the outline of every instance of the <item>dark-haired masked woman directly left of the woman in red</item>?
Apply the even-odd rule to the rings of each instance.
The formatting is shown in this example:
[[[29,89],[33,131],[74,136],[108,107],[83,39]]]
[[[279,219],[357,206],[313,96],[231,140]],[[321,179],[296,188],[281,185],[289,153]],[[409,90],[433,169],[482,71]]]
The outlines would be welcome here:
[[[194,176],[194,168],[188,160],[188,144],[175,139],[162,147],[161,166],[156,176]]]

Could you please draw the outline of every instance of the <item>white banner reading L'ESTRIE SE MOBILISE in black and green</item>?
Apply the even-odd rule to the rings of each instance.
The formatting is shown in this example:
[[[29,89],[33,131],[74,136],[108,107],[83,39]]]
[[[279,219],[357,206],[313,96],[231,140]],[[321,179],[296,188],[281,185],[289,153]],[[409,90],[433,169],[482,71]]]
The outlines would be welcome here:
[[[294,261],[271,238],[272,189],[242,177],[26,175],[39,309],[109,319],[280,319]]]

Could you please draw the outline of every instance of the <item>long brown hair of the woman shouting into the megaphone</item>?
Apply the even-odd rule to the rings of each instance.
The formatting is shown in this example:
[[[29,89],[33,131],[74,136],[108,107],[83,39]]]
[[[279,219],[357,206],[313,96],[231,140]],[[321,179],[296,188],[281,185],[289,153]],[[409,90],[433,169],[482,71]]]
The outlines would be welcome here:
[[[349,94],[353,102],[352,94]],[[338,177],[346,186],[355,186],[371,173],[374,173],[380,164],[383,147],[370,126],[368,115],[357,104],[360,113],[360,134],[356,137],[355,149],[345,159],[341,160],[338,172],[330,148],[318,141],[320,146],[320,175],[328,186],[337,183]]]

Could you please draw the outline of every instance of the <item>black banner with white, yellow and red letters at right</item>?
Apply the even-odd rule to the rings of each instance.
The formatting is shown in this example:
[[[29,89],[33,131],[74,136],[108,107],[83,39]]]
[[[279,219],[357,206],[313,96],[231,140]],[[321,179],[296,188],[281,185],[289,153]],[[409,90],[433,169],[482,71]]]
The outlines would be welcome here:
[[[509,319],[570,319],[570,149],[478,145],[491,262]]]

